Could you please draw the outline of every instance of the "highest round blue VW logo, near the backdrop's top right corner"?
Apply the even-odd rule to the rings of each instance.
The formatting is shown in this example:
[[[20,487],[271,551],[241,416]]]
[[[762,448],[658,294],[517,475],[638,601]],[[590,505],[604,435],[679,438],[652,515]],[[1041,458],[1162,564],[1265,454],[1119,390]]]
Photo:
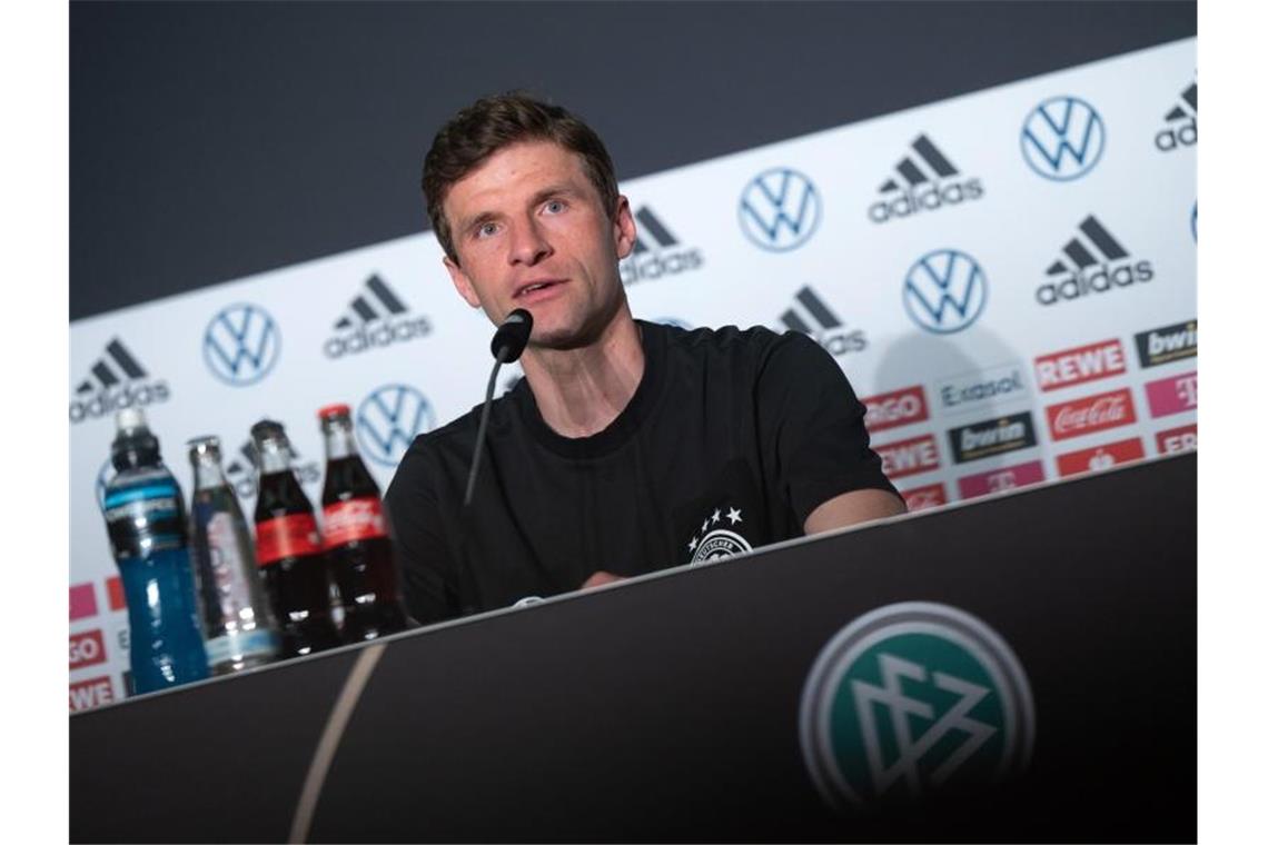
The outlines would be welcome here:
[[[1101,115],[1078,98],[1044,100],[1022,125],[1022,157],[1044,179],[1078,179],[1097,166],[1104,148]]]

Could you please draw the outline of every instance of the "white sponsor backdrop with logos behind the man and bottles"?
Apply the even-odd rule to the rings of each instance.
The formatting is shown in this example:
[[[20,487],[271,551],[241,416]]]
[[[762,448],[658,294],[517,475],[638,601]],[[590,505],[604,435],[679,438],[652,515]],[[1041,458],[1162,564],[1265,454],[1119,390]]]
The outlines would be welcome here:
[[[913,509],[1196,448],[1194,68],[1186,39],[628,181],[634,313],[813,336]],[[440,258],[429,232],[71,324],[72,709],[127,688],[114,412],[186,495],[218,435],[250,509],[250,426],[287,426],[317,498],[346,402],[385,486],[491,365]]]

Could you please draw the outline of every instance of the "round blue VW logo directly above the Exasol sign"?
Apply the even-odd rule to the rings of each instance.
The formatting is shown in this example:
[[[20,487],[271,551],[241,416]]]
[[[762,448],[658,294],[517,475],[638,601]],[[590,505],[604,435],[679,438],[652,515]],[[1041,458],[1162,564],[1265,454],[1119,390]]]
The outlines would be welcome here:
[[[987,307],[987,274],[965,252],[931,252],[907,271],[903,307],[912,322],[927,332],[961,332]]]

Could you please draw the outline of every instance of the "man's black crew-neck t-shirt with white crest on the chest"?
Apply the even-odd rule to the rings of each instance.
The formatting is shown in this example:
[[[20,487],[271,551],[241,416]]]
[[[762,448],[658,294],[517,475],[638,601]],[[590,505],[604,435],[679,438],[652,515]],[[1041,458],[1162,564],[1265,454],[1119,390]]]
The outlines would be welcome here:
[[[799,537],[819,504],[894,492],[864,405],[805,334],[647,323],[643,380],[604,431],[569,438],[526,380],[410,446],[384,500],[415,618],[432,622]]]

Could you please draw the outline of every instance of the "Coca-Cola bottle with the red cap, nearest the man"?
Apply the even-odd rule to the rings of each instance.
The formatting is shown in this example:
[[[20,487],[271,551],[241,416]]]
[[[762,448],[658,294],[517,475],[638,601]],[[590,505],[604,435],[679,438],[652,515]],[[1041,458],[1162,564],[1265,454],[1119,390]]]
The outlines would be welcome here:
[[[347,405],[327,405],[317,417],[326,440],[326,556],[344,604],[344,641],[415,627],[401,599],[379,486],[356,451]]]

